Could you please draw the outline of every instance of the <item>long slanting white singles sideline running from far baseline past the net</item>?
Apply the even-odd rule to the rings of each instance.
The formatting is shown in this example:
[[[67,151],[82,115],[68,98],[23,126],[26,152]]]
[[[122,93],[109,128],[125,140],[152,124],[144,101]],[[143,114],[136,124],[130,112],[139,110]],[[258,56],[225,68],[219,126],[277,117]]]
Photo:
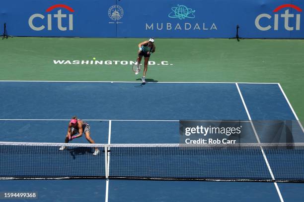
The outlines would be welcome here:
[[[249,114],[249,111],[248,111],[248,108],[247,108],[247,106],[246,106],[246,103],[245,103],[245,101],[244,101],[244,99],[243,99],[242,93],[240,92],[240,89],[239,89],[239,87],[238,87],[238,84],[235,83],[235,85],[236,85],[237,91],[238,91],[238,93],[239,93],[239,96],[240,96],[240,98],[241,98],[241,100],[242,100],[242,102],[243,102],[243,105],[244,105],[244,108],[245,108],[245,110],[246,110],[247,116],[248,116],[248,118],[249,118],[249,120],[250,120],[251,127],[252,127],[252,129],[253,129],[254,135],[255,135],[255,137],[256,137],[258,143],[260,144],[261,141],[260,141],[260,139],[259,139],[259,137],[258,137],[258,135],[257,135],[257,132],[256,132],[256,130],[255,130],[255,127],[254,127],[254,125],[253,125],[251,116],[250,116],[250,114]],[[270,167],[270,165],[269,165],[269,162],[268,162],[268,159],[267,159],[267,157],[266,157],[266,155],[265,155],[265,152],[264,152],[264,150],[263,150],[263,148],[262,148],[261,146],[260,146],[260,149],[261,149],[261,152],[262,152],[262,154],[263,154],[263,157],[264,157],[264,160],[265,160],[265,162],[266,162],[266,165],[267,165],[267,167],[268,167],[268,170],[269,170],[269,172],[270,172],[271,178],[272,178],[272,180],[275,180],[275,177],[274,177],[274,175],[273,175],[273,172],[272,172],[272,170],[271,170],[271,167]],[[281,195],[281,192],[280,192],[280,189],[279,189],[277,183],[274,182],[274,185],[275,185],[275,187],[276,187],[276,190],[277,190],[277,192],[278,192],[278,195],[279,195],[279,197],[280,197],[281,202],[284,202],[283,197],[282,197],[282,195]]]

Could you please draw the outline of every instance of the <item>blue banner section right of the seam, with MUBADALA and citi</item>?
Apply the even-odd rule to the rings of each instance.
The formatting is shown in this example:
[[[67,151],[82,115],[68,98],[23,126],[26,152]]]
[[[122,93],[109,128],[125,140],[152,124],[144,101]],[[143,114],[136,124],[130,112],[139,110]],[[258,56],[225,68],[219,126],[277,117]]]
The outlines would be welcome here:
[[[125,10],[118,37],[304,38],[304,1],[293,0],[121,0]],[[146,1],[145,1],[146,2]]]

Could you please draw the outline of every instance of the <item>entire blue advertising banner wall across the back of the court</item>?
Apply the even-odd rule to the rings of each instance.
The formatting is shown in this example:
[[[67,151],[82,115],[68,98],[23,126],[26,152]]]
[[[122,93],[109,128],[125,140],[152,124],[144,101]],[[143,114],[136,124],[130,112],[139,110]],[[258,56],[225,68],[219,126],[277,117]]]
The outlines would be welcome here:
[[[9,0],[9,35],[304,38],[303,0]]]

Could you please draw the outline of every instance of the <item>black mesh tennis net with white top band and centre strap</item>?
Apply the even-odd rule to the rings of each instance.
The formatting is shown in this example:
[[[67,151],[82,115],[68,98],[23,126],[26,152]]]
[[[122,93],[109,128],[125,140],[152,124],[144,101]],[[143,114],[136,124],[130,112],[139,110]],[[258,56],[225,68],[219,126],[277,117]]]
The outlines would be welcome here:
[[[70,178],[304,182],[304,144],[0,142],[0,179]]]

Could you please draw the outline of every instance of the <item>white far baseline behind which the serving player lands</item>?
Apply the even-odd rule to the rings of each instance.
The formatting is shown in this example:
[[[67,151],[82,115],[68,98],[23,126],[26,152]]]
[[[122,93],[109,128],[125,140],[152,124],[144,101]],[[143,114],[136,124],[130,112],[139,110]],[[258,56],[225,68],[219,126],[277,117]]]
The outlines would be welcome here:
[[[1,80],[0,82],[54,82],[54,83],[143,83],[141,81],[4,81]],[[176,83],[176,84],[235,84],[235,82],[146,82],[146,83]],[[278,83],[250,83],[250,82],[238,82],[239,84],[278,84]]]

